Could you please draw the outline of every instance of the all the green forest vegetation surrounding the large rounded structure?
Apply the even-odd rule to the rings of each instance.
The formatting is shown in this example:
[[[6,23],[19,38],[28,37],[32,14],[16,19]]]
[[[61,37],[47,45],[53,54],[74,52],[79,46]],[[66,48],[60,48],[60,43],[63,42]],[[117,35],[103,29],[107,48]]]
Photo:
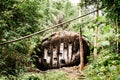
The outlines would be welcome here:
[[[84,15],[95,9],[82,21],[75,20],[49,31],[8,44],[7,41],[50,28],[58,23],[59,15],[63,21]],[[86,80],[120,79],[120,1],[82,0],[77,5],[69,0],[1,0],[0,1],[0,80],[44,80],[45,75],[30,72],[35,65],[31,60],[34,47],[55,31],[68,30],[82,34],[90,42],[91,56],[83,72]],[[96,27],[98,33],[96,34]],[[97,46],[94,38],[97,36]],[[97,49],[97,58],[93,57]],[[53,71],[46,74],[45,80],[69,80],[66,73]],[[79,78],[78,78],[79,80]]]

